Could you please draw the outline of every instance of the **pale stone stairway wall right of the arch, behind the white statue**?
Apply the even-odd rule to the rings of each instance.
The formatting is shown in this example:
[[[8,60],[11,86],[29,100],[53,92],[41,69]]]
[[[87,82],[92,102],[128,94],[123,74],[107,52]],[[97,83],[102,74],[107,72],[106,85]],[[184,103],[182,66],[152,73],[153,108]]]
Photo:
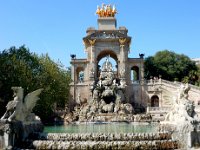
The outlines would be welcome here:
[[[159,107],[170,107],[176,92],[183,84],[178,81],[172,82],[160,78],[143,80],[143,84],[141,81],[131,83],[130,91],[133,91],[130,96],[131,100],[137,103],[145,101],[144,105],[146,105],[147,102],[150,103],[152,96],[156,95],[159,98]],[[189,87],[189,100],[194,101],[195,105],[200,105],[200,87],[191,84],[189,84]]]

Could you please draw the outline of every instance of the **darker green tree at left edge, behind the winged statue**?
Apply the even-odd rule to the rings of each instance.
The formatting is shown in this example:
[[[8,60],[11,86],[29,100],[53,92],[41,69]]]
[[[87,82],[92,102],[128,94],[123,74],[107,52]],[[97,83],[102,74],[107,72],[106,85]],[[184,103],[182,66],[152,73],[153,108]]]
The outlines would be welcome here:
[[[25,94],[39,87],[37,75],[41,70],[38,66],[39,62],[25,46],[11,47],[0,53],[0,97],[4,104],[13,98],[12,86],[22,86]],[[1,110],[2,115],[5,109]]]

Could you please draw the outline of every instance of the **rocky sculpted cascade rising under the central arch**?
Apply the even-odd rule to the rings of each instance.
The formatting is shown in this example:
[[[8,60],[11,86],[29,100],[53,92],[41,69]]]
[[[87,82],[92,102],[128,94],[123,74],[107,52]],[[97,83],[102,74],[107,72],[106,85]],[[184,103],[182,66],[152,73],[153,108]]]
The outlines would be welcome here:
[[[99,79],[90,87],[92,98],[77,105],[73,118],[78,121],[132,121],[134,110],[125,97],[125,79],[116,78],[109,57],[102,65]],[[128,117],[128,118],[127,118]]]

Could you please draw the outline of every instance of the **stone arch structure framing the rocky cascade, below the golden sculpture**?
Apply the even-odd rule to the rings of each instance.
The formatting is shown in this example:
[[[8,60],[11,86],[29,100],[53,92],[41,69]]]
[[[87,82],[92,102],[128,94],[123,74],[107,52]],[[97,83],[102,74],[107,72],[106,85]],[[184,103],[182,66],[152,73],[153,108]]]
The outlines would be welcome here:
[[[88,28],[87,35],[83,38],[85,45],[86,59],[72,59],[71,71],[71,95],[74,101],[91,99],[90,85],[99,79],[99,62],[102,58],[110,56],[116,61],[116,78],[124,78],[126,82],[126,99],[128,102],[134,102],[137,99],[141,102],[144,95],[144,89],[138,87],[139,93],[133,98],[133,87],[131,80],[131,70],[136,68],[137,81],[144,78],[143,56],[140,58],[129,58],[131,37],[128,36],[126,27],[117,29],[117,20],[115,17],[101,17],[97,20],[98,29]],[[80,79],[80,72],[83,72],[84,78]],[[75,95],[75,96],[74,96]],[[146,102],[143,102],[144,104]]]

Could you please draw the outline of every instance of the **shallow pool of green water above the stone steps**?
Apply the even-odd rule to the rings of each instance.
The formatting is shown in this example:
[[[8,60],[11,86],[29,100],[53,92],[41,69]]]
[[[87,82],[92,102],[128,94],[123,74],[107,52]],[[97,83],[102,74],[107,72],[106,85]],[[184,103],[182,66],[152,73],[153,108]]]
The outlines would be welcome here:
[[[46,133],[150,133],[158,132],[156,123],[82,123],[46,126]]]

